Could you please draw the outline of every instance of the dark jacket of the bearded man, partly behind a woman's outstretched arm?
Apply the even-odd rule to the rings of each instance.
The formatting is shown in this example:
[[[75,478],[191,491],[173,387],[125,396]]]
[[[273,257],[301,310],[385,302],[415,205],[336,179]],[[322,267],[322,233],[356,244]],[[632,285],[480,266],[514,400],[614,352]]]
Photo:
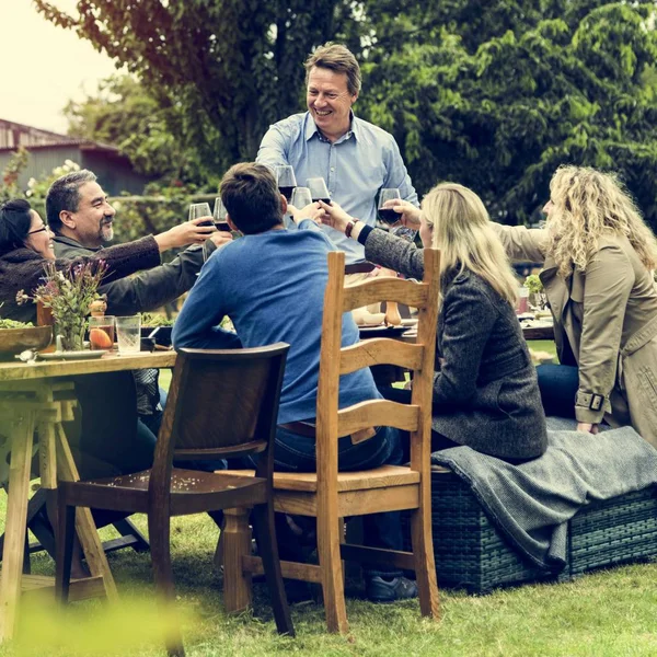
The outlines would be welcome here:
[[[215,244],[207,242],[208,251]],[[79,255],[91,255],[101,251],[88,249],[76,240],[55,237],[55,255],[72,258]],[[196,283],[196,275],[203,266],[203,249],[189,246],[172,262],[140,272],[129,278],[114,280],[100,287],[101,295],[107,295],[107,314],[129,315],[137,312],[155,310],[184,295]]]

